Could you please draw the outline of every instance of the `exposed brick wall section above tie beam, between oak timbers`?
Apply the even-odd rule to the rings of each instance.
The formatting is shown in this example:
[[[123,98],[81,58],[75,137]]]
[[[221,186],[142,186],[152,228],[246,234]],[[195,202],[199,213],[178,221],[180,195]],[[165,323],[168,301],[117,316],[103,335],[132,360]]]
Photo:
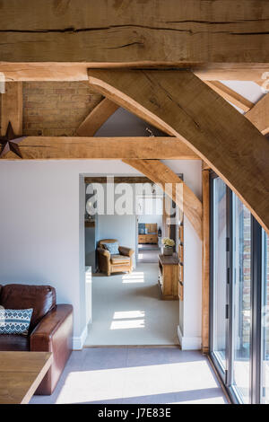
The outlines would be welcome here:
[[[87,82],[25,82],[23,135],[74,136],[100,99]]]

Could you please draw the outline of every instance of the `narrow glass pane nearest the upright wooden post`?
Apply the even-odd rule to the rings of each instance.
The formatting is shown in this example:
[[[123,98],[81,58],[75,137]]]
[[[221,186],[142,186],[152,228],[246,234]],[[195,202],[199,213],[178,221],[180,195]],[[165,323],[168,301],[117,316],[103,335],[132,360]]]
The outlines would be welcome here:
[[[213,180],[213,354],[226,368],[226,238],[227,189],[221,179]]]

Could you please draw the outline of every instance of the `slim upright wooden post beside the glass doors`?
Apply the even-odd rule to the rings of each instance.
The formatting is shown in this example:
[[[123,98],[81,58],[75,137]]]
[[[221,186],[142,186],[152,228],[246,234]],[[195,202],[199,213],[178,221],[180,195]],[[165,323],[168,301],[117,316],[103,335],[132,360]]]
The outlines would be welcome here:
[[[210,274],[210,171],[203,180],[203,276],[202,276],[202,351],[209,353],[209,274]]]

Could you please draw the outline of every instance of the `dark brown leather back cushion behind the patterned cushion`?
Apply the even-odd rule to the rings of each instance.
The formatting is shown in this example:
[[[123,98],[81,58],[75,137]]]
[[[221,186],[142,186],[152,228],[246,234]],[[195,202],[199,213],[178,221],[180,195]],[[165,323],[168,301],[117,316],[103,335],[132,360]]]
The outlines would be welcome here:
[[[56,305],[56,290],[52,286],[6,285],[2,286],[0,304],[5,309],[33,308],[30,332]]]

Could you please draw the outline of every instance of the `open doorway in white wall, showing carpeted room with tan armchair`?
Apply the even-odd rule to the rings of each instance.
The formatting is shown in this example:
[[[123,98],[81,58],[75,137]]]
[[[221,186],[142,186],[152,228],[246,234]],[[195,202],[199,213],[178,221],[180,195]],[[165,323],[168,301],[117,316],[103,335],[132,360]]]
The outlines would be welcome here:
[[[92,273],[92,321],[85,346],[178,346],[178,294],[164,300],[159,283],[164,194],[150,180],[143,192],[144,178],[127,179],[115,176],[112,193],[111,180],[96,178],[102,207],[93,183],[85,185],[86,266]],[[119,203],[125,212],[117,209]],[[92,207],[98,212],[89,218]],[[139,242],[143,234],[149,235],[144,243]]]

